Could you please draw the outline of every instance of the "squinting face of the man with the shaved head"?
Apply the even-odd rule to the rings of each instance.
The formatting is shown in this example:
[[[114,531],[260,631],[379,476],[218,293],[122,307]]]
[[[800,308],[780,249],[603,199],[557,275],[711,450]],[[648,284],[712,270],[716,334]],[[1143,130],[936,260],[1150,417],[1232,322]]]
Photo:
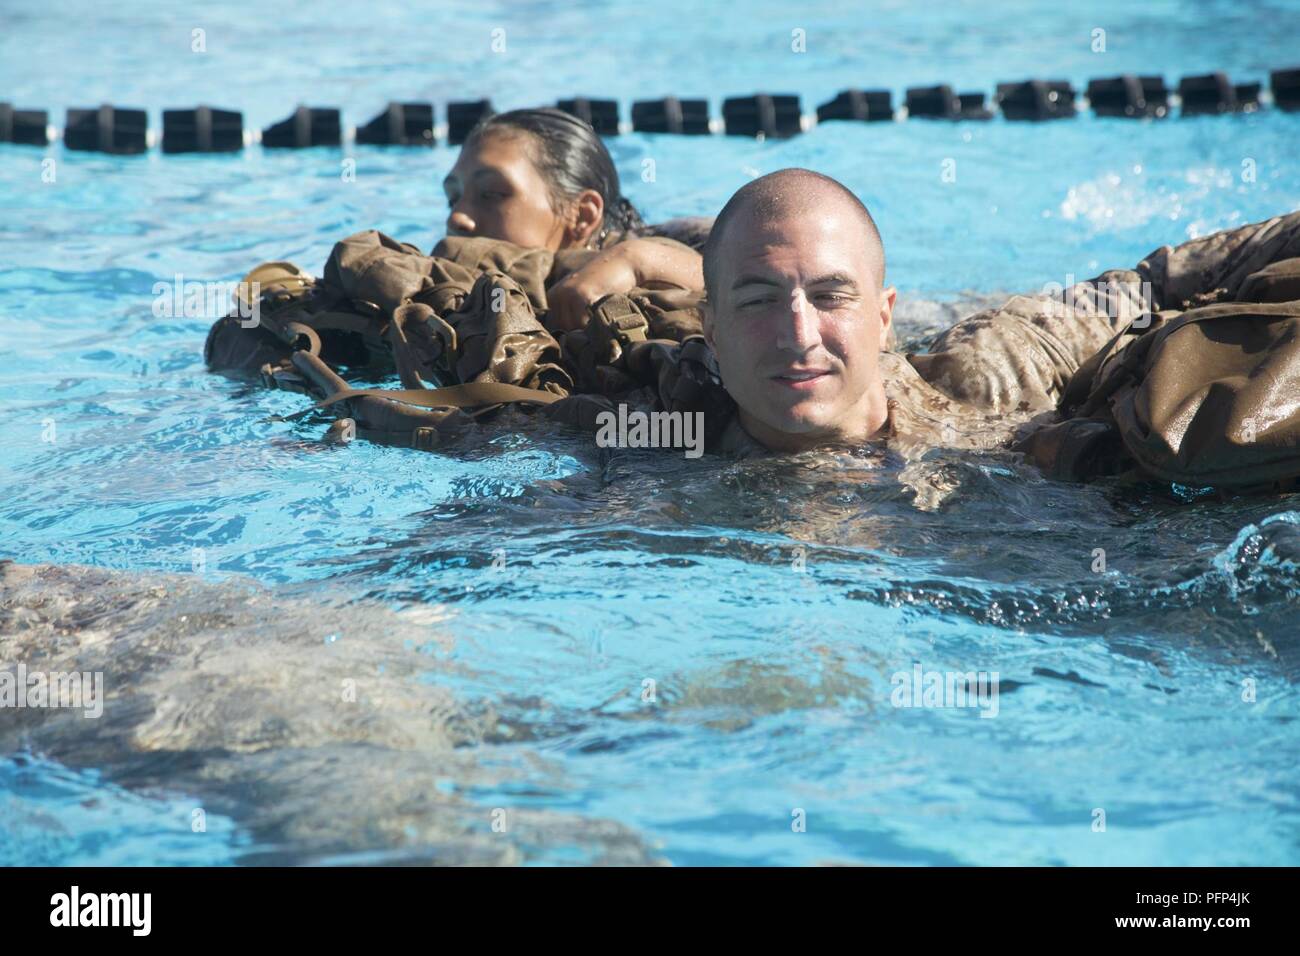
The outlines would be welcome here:
[[[867,437],[896,293],[879,287],[857,216],[832,202],[766,222],[745,212],[720,254],[705,337],[745,429],[777,450]]]

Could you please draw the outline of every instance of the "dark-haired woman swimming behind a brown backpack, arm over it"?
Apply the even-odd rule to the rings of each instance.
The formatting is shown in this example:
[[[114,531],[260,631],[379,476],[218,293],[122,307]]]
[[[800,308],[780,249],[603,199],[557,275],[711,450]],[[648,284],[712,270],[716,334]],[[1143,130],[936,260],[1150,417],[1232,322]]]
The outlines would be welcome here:
[[[653,238],[656,230],[621,195],[604,143],[559,109],[515,109],[484,120],[442,187],[451,207],[448,237],[560,254],[547,289],[554,332],[580,328],[588,306],[612,293],[659,282],[703,289],[699,254]],[[690,238],[698,238],[699,226],[693,228]]]

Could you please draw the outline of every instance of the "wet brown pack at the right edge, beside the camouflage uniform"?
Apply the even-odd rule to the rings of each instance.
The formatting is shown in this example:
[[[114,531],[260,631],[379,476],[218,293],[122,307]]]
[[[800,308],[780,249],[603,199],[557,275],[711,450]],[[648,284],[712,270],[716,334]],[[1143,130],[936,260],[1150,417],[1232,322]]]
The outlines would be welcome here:
[[[1251,274],[1236,302],[1139,317],[1075,372],[1062,421],[1018,449],[1052,477],[1291,489],[1300,477],[1296,297],[1300,259],[1288,259]]]

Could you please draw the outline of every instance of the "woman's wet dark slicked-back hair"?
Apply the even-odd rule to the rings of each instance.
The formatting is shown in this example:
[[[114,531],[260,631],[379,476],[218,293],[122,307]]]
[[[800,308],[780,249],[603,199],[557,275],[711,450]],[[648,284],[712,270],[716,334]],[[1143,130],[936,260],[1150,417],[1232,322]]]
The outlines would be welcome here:
[[[604,143],[590,124],[554,109],[512,109],[481,120],[465,138],[465,146],[488,133],[529,133],[537,148],[533,163],[551,191],[551,206],[559,209],[586,189],[604,200],[604,219],[593,241],[597,248],[607,242],[638,235],[646,229],[641,213],[624,199],[619,170]]]

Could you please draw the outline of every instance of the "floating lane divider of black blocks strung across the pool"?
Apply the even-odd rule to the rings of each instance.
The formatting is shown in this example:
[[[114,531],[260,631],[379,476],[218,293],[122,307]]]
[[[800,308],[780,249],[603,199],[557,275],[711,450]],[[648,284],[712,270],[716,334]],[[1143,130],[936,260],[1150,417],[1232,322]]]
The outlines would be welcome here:
[[[1170,92],[1164,77],[1105,77],[1092,79],[1082,95],[1083,109],[1100,117],[1164,118],[1176,107],[1182,116],[1252,113],[1271,99],[1278,109],[1300,111],[1300,66],[1269,74],[1271,98],[1262,83],[1232,83],[1225,73],[1183,77],[1176,92]],[[706,99],[636,100],[630,124],[619,113],[618,100],[576,96],[555,105],[576,116],[603,137],[620,133],[670,133],[677,135],[725,134],[785,139],[819,122],[896,122],[900,120],[992,120],[993,111],[1010,121],[1045,122],[1079,113],[1080,96],[1065,79],[1028,79],[998,83],[993,108],[983,92],[956,92],[948,85],[909,87],[904,105],[894,109],[889,90],[844,90],[805,114],[794,94],[754,94],[728,96],[722,117],[708,114]],[[341,147],[344,142],[363,146],[428,147],[445,139],[458,146],[484,117],[495,111],[489,100],[447,104],[447,121],[438,125],[432,103],[389,103],[364,126],[343,126],[342,112],[333,107],[298,107],[292,114],[266,129],[246,130],[243,114],[233,109],[196,107],[164,109],[162,152],[234,152],[261,143],[264,148],[304,150],[316,146]],[[143,109],[104,104],[69,109],[64,129],[49,124],[44,109],[16,109],[0,103],[0,143],[48,146],[61,135],[69,150],[131,155],[155,146]]]

